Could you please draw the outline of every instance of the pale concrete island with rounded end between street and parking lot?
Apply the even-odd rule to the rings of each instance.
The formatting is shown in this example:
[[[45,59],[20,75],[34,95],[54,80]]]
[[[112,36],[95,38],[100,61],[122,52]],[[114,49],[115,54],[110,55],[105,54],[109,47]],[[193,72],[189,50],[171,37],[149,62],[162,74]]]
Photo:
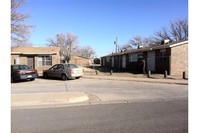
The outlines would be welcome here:
[[[89,100],[83,92],[53,92],[53,93],[31,93],[31,94],[12,94],[12,107],[34,107],[52,106],[62,104],[84,102]]]

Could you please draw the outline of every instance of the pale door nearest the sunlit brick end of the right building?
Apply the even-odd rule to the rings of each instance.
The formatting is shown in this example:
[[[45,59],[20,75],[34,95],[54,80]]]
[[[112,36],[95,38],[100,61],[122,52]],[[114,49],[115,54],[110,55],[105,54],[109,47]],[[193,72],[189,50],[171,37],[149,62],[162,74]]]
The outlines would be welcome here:
[[[147,53],[147,70],[155,71],[155,51]]]

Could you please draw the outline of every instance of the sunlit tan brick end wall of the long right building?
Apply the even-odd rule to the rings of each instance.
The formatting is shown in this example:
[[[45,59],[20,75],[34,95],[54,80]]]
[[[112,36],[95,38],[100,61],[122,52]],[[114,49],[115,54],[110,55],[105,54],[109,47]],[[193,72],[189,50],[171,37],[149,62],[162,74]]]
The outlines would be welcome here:
[[[188,43],[171,48],[171,75],[182,75],[183,71],[188,76]]]

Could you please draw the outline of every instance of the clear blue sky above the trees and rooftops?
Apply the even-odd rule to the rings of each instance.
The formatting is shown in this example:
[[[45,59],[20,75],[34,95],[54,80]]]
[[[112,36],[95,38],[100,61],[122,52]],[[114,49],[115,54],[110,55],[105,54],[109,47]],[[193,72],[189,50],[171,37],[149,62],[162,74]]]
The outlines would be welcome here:
[[[46,46],[57,33],[73,33],[80,46],[91,46],[98,57],[115,51],[114,40],[126,44],[170,21],[188,18],[188,0],[27,0],[21,10],[35,25],[30,41]]]

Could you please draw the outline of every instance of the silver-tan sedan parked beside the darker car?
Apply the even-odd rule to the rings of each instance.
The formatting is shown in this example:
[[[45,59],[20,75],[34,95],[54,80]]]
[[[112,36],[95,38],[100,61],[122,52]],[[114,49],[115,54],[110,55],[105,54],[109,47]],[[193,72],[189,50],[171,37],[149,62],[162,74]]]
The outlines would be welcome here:
[[[55,64],[48,70],[43,71],[44,78],[61,78],[67,79],[79,79],[83,75],[83,69],[75,64]]]

